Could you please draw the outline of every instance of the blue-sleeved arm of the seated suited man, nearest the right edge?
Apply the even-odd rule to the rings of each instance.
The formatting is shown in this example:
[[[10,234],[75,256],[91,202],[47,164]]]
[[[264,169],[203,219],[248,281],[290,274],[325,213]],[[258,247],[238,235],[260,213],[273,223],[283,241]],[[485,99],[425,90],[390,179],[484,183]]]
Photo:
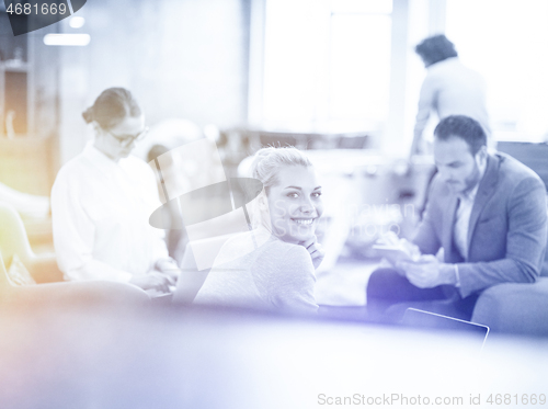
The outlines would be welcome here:
[[[460,294],[466,297],[499,283],[532,283],[540,273],[547,235],[546,189],[523,180],[507,208],[506,255],[491,262],[458,263]]]

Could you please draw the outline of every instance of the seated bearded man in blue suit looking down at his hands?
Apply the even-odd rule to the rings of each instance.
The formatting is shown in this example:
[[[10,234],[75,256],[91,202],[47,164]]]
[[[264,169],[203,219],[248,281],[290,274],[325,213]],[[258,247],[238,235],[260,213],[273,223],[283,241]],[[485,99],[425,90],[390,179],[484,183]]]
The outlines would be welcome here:
[[[423,255],[372,274],[373,319],[397,320],[408,306],[470,319],[482,291],[539,275],[547,207],[538,175],[509,156],[489,155],[486,134],[470,117],[444,118],[434,137],[437,174],[412,240]],[[406,304],[391,307],[399,303]]]

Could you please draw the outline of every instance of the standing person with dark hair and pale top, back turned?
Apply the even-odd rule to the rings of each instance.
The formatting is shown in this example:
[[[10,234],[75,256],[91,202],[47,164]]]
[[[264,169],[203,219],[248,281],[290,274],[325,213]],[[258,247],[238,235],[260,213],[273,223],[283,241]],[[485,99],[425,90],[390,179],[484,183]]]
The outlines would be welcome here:
[[[426,151],[422,134],[432,111],[439,121],[449,115],[470,116],[480,123],[490,139],[486,83],[481,75],[460,63],[455,45],[443,34],[425,38],[415,47],[415,53],[427,73],[421,88],[411,155]]]

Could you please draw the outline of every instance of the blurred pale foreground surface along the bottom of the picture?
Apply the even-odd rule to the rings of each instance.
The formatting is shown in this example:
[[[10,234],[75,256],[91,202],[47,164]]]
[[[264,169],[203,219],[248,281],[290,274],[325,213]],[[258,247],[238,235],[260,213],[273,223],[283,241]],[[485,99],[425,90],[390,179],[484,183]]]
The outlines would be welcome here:
[[[5,306],[4,306],[5,307]],[[2,408],[317,408],[318,397],[543,394],[541,341],[180,308],[0,313]],[[396,404],[395,404],[396,405]],[[396,407],[401,407],[396,405]]]

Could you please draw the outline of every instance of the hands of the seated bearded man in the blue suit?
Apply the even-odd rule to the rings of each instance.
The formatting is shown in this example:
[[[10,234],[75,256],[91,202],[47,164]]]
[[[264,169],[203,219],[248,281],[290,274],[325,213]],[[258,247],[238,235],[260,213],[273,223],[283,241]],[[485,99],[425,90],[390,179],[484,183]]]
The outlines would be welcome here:
[[[418,262],[401,261],[397,268],[419,288],[432,288],[442,284],[455,285],[455,265],[441,263],[434,255],[422,255]]]

